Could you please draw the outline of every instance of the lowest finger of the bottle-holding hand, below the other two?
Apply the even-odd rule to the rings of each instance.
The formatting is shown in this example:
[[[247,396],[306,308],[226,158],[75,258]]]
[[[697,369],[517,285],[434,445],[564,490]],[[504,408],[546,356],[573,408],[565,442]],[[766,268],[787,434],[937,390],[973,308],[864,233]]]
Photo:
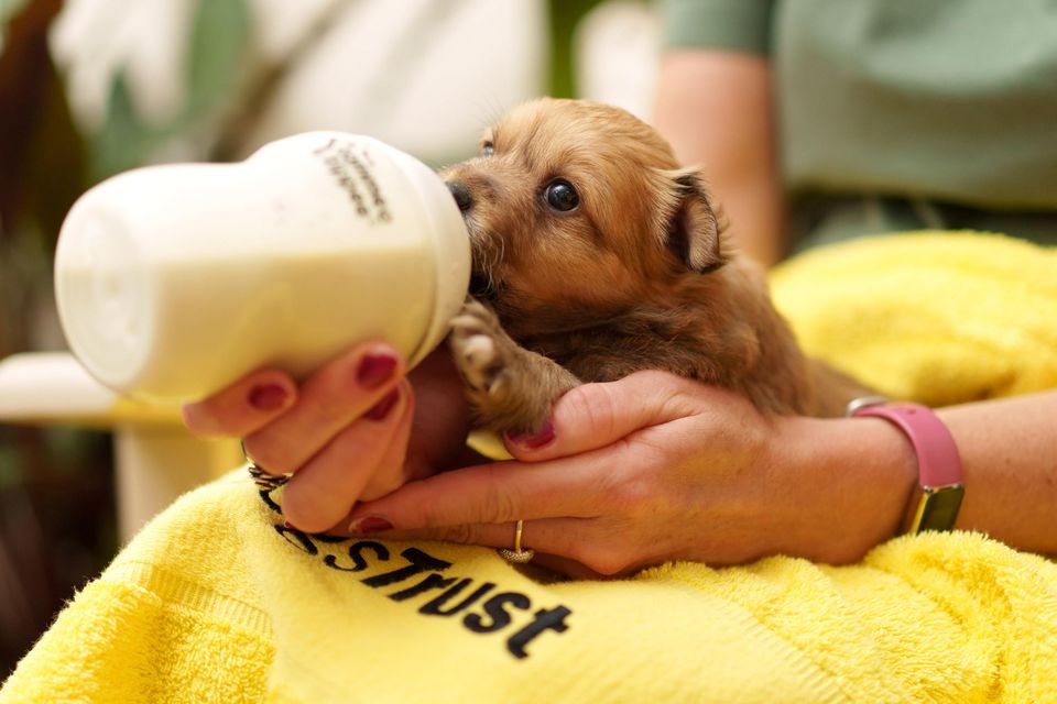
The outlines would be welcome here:
[[[383,468],[401,420],[407,415],[408,389],[399,385],[312,458],[283,490],[283,517],[308,532],[334,527],[356,503],[371,477]],[[399,471],[386,468],[386,471]]]

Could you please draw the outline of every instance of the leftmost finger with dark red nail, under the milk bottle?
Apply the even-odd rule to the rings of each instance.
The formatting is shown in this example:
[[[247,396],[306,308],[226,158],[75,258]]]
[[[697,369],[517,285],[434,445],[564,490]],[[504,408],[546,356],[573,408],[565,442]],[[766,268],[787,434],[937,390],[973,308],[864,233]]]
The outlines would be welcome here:
[[[297,385],[279,370],[258,370],[208,398],[185,404],[184,424],[200,437],[246,437],[283,415]]]

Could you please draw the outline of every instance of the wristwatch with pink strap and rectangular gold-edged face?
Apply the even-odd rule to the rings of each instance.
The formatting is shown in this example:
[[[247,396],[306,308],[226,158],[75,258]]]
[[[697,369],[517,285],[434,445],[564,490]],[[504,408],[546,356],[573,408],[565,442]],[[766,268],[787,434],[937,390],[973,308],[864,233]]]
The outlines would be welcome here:
[[[961,458],[944,421],[925,406],[890,403],[883,396],[857,398],[848,404],[844,415],[883,418],[902,430],[914,446],[919,488],[903,521],[903,532],[951,530],[966,490]]]

